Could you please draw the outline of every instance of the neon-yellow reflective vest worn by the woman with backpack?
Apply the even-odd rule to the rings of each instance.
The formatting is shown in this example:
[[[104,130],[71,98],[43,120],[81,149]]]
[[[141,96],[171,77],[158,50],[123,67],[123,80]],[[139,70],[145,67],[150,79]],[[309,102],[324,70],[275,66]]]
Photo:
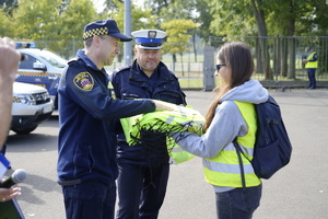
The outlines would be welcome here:
[[[244,137],[237,137],[244,155],[249,160],[253,159],[255,134],[257,129],[257,120],[254,105],[251,103],[238,102],[237,104],[246,124],[248,132]],[[242,155],[244,163],[244,172],[246,180],[246,187],[257,186],[260,180],[254,173],[250,162]],[[203,172],[206,181],[212,185],[226,187],[243,187],[241,177],[241,166],[236,149],[233,143],[229,143],[215,158],[203,159]]]

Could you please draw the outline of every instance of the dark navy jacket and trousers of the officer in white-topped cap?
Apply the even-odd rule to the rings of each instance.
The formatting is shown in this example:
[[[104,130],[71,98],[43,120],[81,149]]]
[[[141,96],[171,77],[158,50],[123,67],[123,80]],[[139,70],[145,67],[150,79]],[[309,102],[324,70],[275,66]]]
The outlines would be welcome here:
[[[112,83],[118,99],[154,99],[186,104],[177,78],[162,61],[149,78],[134,60],[131,66],[115,71]],[[159,145],[166,149],[165,139],[163,136]],[[147,153],[143,145],[128,146],[122,132],[117,136],[117,218],[157,218],[169,173],[167,150]]]

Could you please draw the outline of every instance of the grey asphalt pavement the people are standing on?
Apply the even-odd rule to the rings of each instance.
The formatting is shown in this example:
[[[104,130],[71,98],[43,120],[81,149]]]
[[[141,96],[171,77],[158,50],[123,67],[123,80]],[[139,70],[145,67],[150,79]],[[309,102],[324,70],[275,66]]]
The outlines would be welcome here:
[[[187,102],[202,115],[212,94],[186,91]],[[328,215],[328,90],[270,90],[282,110],[293,145],[291,163],[263,181],[255,219],[323,219]],[[7,158],[12,170],[25,169],[17,201],[25,218],[65,218],[61,188],[56,183],[58,116],[30,135],[10,132]],[[214,192],[204,182],[201,159],[172,165],[160,219],[214,219]]]

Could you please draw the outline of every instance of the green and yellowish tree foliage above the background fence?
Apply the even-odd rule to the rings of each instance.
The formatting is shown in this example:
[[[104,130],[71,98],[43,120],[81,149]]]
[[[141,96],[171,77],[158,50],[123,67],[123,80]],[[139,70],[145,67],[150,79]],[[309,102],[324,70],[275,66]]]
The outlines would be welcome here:
[[[178,30],[166,26],[167,35],[171,35],[167,41],[175,44],[189,43],[187,37],[192,37],[195,42],[197,36],[208,42],[211,37],[224,41],[224,37],[234,39],[236,36],[328,34],[326,0],[144,0],[142,5],[133,4],[133,0],[131,2],[132,31],[164,28],[179,20],[198,24],[197,27],[185,30],[181,24],[177,24]],[[124,30],[124,0],[105,0],[105,9],[99,14],[92,0],[0,0],[0,36],[47,41],[37,46],[59,54],[82,47],[83,26],[89,22],[115,19],[118,27]],[[261,34],[263,25],[267,31]],[[67,46],[67,42],[72,39],[75,39],[75,48]],[[184,50],[186,48],[183,47],[167,48],[174,54]]]

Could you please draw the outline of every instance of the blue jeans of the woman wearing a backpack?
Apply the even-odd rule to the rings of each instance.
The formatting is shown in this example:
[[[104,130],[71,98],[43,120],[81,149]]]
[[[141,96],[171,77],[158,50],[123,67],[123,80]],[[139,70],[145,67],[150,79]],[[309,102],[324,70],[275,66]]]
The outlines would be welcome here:
[[[254,187],[235,188],[215,193],[218,219],[250,219],[258,208],[262,184]]]

